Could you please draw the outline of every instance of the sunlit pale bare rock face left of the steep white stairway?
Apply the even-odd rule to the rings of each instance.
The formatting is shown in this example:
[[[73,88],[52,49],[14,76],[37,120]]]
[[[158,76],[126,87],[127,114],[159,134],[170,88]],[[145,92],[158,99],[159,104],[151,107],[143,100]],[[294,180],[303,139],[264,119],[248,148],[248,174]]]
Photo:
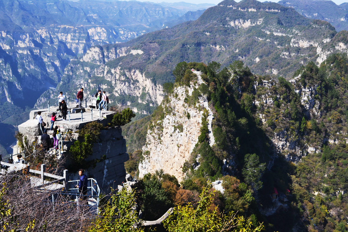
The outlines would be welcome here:
[[[186,103],[192,91],[192,86],[175,88],[167,103],[163,103],[164,119],[153,122],[146,136],[142,149],[144,159],[139,164],[140,177],[160,169],[179,181],[184,177],[182,167],[197,143],[204,109],[201,103],[195,106]]]

